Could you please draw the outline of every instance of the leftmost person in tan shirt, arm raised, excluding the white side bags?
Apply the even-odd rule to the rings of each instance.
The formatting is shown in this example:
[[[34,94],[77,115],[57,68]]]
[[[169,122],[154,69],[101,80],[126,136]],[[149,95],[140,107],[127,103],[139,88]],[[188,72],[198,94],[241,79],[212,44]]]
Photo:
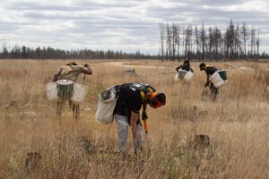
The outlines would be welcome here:
[[[60,66],[58,71],[53,75],[53,82],[61,81],[57,82],[57,116],[62,115],[65,101],[68,100],[70,107],[72,107],[74,118],[79,119],[80,106],[79,104],[74,104],[71,97],[73,95],[74,82],[78,80],[78,77],[81,74],[84,74],[83,79],[85,79],[86,74],[92,74],[90,64],[78,65],[75,62],[71,62],[69,64],[65,64],[64,66]]]

